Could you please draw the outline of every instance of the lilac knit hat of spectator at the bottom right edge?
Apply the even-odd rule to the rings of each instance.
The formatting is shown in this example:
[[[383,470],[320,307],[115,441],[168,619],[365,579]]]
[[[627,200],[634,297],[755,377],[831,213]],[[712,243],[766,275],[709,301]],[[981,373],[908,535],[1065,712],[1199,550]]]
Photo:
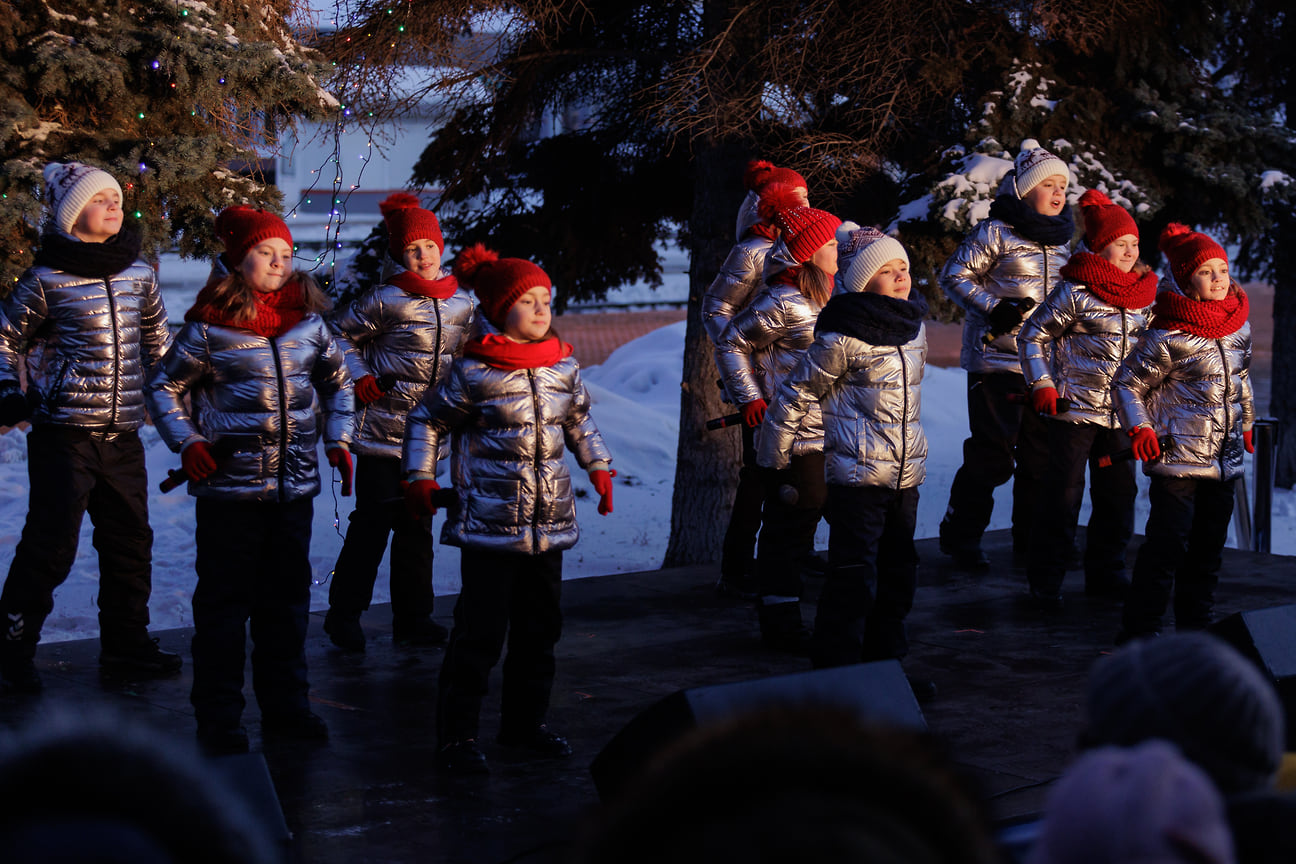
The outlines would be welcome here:
[[[1081,755],[1045,803],[1026,864],[1232,864],[1223,799],[1165,741]]]

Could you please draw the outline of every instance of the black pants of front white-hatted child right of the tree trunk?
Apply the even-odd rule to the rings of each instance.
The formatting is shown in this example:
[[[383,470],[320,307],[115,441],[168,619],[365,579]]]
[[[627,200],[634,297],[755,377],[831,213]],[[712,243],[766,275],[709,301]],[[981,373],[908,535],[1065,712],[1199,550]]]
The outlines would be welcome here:
[[[828,486],[828,576],[810,659],[816,668],[908,653],[918,588],[918,488]]]

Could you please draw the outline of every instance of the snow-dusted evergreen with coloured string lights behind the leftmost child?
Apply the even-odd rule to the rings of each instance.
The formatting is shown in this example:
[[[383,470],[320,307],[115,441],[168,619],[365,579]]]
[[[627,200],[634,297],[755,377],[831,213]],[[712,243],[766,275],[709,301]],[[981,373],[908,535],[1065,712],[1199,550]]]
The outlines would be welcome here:
[[[219,209],[277,209],[258,159],[294,118],[337,108],[290,12],[290,0],[0,4],[0,285],[31,262],[47,162],[111,172],[146,253],[210,253]]]

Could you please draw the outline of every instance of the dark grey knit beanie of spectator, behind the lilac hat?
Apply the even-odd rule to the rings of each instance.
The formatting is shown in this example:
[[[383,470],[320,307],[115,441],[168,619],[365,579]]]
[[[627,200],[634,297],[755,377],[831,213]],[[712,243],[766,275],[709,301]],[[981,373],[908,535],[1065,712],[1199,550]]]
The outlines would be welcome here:
[[[1172,741],[1225,795],[1269,786],[1283,756],[1278,693],[1260,670],[1205,632],[1126,642],[1089,675],[1091,746]]]

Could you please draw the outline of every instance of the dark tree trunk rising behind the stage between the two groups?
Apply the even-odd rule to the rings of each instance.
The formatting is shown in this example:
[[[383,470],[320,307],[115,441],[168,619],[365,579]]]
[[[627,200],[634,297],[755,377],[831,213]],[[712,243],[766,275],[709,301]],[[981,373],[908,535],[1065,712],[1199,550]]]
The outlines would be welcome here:
[[[689,218],[688,324],[684,380],[679,394],[679,446],[665,567],[718,561],[737,486],[741,437],[734,429],[706,431],[712,417],[735,411],[717,385],[715,351],[702,328],[702,295],[734,244],[734,215],[743,199],[732,153],[717,144],[695,149],[696,180]],[[741,162],[739,162],[741,165]]]

